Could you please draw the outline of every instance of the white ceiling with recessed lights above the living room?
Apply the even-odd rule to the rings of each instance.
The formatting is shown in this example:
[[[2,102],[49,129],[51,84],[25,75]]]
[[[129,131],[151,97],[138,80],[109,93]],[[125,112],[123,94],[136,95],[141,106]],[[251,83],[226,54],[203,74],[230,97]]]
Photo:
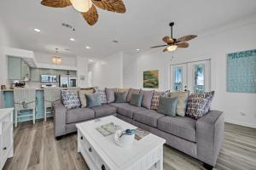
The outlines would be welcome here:
[[[0,20],[20,42],[21,48],[39,53],[54,53],[55,47],[70,56],[103,58],[124,51],[136,54],[150,46],[161,44],[161,37],[170,34],[174,21],[174,36],[200,35],[218,26],[241,20],[256,12],[255,0],[124,0],[127,12],[113,14],[98,9],[96,26],[88,26],[72,7],[47,8],[40,0],[1,0]],[[73,31],[61,23],[73,25]],[[33,31],[41,30],[40,33]],[[69,40],[76,39],[75,42]],[[200,38],[200,37],[198,37]],[[112,41],[118,40],[115,44]],[[196,40],[194,40],[196,41]],[[90,46],[88,50],[85,46]]]

